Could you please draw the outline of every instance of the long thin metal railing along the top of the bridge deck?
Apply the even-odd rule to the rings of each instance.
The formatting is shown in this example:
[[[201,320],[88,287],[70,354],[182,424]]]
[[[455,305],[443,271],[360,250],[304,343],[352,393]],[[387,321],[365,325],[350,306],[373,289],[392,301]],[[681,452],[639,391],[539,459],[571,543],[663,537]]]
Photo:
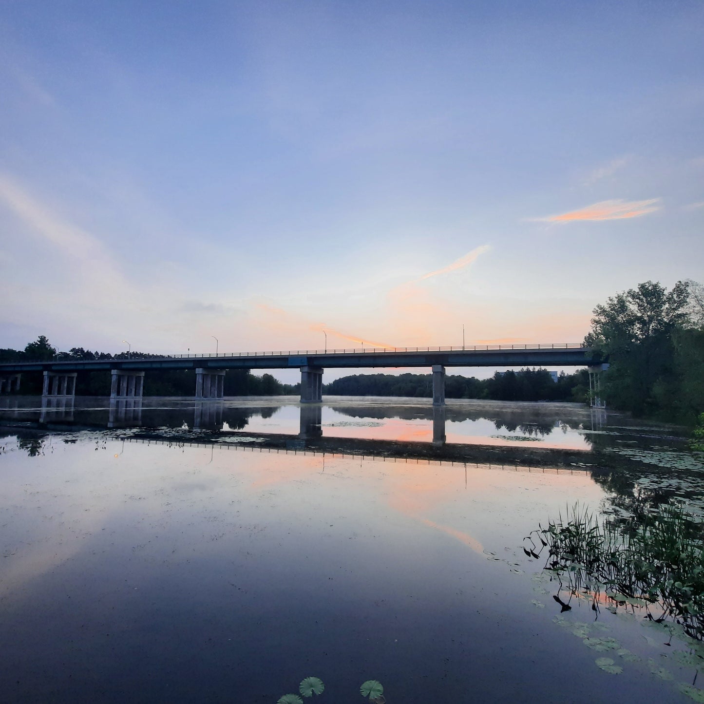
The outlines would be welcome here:
[[[541,342],[534,344],[498,344],[498,345],[457,345],[457,346],[439,346],[439,347],[353,347],[353,348],[335,348],[335,349],[315,349],[315,350],[278,350],[265,352],[220,352],[219,354],[211,353],[187,353],[187,354],[170,354],[170,355],[155,355],[150,357],[132,357],[137,360],[158,360],[158,359],[219,359],[223,357],[308,357],[311,355],[342,355],[342,354],[392,354],[398,352],[486,352],[486,351],[510,351],[510,350],[562,350],[562,349],[586,349],[587,347],[582,342]],[[120,361],[123,362],[128,357],[113,357],[111,359],[101,360],[80,360],[71,357],[57,355],[53,360],[15,360],[15,362],[0,363],[0,367],[4,364],[35,364],[35,363],[55,363],[55,362],[101,362]]]

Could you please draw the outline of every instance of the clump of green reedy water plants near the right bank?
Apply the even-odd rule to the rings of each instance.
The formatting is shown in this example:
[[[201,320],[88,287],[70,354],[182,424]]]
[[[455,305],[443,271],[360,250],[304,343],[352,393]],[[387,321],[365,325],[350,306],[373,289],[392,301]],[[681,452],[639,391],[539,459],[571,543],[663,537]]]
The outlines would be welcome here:
[[[591,598],[594,611],[604,602],[643,609],[648,620],[704,641],[704,522],[681,502],[618,521],[575,505],[527,540],[533,558],[547,548],[545,569],[561,586],[566,580],[570,598]]]

